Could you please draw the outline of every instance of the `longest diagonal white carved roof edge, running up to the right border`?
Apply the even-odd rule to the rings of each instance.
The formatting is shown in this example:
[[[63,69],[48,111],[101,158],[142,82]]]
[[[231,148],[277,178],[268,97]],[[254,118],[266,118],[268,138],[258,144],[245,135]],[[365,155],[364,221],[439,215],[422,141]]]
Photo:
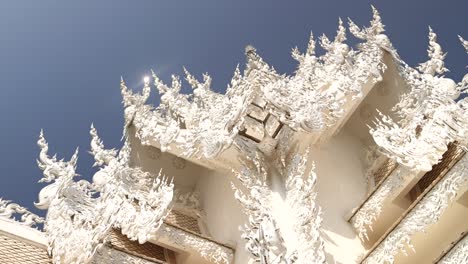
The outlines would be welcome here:
[[[406,247],[412,248],[411,237],[416,233],[424,232],[426,228],[439,221],[459,190],[466,186],[468,183],[467,166],[468,155],[465,155],[370,253],[363,263],[393,263],[398,252],[406,253]]]

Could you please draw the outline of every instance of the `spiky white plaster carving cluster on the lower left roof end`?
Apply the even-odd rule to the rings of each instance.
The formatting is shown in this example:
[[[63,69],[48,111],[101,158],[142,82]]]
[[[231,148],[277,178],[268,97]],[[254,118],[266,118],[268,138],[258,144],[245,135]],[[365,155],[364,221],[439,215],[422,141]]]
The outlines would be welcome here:
[[[172,201],[173,185],[165,177],[129,167],[127,140],[117,152],[104,149],[93,126],[90,134],[91,154],[100,167],[92,184],[74,181],[77,151],[70,161],[51,158],[42,131],[39,137],[41,181],[51,184],[41,190],[36,206],[48,209],[44,229],[54,263],[88,262],[113,228],[146,242]]]

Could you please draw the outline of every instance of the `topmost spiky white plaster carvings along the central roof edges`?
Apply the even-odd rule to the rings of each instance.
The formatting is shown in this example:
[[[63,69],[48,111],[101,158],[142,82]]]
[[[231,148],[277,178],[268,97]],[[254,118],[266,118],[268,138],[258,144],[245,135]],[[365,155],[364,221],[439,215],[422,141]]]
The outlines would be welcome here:
[[[246,69],[241,74],[236,68],[224,95],[210,90],[207,74],[199,81],[184,69],[193,88],[193,93],[186,95],[180,93],[179,77],[173,76],[168,86],[153,73],[161,103],[152,107],[144,104],[150,91],[148,80],[142,94],[132,93],[122,81],[126,127],[135,125],[143,144],[156,142],[162,151],[177,147],[185,157],[204,158],[213,158],[236,142],[238,132],[245,129],[249,105],[258,102],[295,130],[322,132],[343,115],[345,103],[362,96],[362,87],[369,80],[382,79],[382,48],[392,50],[376,10],[371,28],[361,31],[352,22],[351,26],[351,32],[366,41],[362,47],[353,50],[344,43],[346,29],[340,20],[333,41],[320,38],[326,51],[323,56],[315,55],[313,36],[306,53],[297,48],[292,51],[299,62],[292,76],[277,73],[248,46]]]

